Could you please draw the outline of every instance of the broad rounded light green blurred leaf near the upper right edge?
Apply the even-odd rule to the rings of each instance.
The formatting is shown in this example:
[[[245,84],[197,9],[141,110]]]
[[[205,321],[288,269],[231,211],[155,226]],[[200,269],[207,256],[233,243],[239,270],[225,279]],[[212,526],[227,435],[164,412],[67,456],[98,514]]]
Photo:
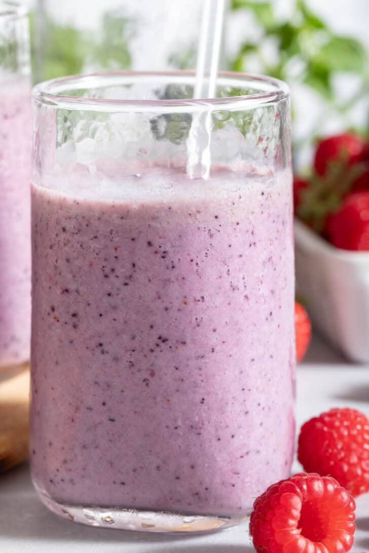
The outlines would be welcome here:
[[[360,73],[367,54],[360,42],[349,36],[332,36],[315,55],[314,64],[330,71]]]

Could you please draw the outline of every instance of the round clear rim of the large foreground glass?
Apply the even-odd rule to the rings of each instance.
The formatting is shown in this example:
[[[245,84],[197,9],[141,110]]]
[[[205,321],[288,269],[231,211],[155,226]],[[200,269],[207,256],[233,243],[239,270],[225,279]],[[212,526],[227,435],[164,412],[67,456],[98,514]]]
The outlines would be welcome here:
[[[71,75],[43,81],[32,91],[34,100],[56,109],[99,112],[160,112],[193,113],[201,111],[221,111],[222,109],[256,109],[276,104],[289,97],[289,87],[285,82],[265,75],[220,71],[217,85],[251,85],[264,88],[242,96],[219,98],[176,98],[174,100],[131,100],[114,98],[93,98],[88,96],[68,96],[60,92],[81,90],[102,86],[134,84],[136,82],[170,82],[173,78],[179,84],[194,84],[195,71],[107,71],[85,75]]]

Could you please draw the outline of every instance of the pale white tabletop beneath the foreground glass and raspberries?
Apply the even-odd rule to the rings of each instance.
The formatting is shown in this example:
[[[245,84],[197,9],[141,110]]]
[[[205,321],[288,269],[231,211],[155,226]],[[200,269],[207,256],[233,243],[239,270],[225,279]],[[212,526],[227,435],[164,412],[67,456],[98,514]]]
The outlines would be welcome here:
[[[333,406],[369,416],[369,366],[347,363],[315,337],[297,371],[298,428]],[[296,463],[294,470],[298,471]],[[89,528],[48,512],[24,465],[0,477],[1,553],[252,553],[247,524],[204,536],[175,537]],[[354,553],[369,552],[369,493],[357,498]]]

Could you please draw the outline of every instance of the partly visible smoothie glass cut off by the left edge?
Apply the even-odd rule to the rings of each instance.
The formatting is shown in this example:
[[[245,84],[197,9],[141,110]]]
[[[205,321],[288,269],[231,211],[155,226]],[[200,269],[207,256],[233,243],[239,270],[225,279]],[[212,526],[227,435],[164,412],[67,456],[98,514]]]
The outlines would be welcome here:
[[[31,101],[28,14],[0,1],[0,367],[29,359]]]

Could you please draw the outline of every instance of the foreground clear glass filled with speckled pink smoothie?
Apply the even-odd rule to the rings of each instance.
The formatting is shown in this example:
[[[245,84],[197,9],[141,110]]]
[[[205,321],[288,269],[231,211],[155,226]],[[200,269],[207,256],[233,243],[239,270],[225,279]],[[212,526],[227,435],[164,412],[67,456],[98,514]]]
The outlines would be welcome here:
[[[93,526],[224,528],[291,467],[287,86],[193,87],[116,72],[33,93],[32,475]]]

